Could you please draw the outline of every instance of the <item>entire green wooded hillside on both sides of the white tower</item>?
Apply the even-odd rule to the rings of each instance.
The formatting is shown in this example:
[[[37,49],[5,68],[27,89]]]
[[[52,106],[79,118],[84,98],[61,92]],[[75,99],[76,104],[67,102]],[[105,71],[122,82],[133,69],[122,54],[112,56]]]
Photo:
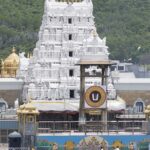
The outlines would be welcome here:
[[[0,58],[12,46],[33,50],[44,0],[0,0],[0,4]],[[93,0],[93,4],[97,32],[107,37],[112,59],[137,62],[150,52],[150,0]]]

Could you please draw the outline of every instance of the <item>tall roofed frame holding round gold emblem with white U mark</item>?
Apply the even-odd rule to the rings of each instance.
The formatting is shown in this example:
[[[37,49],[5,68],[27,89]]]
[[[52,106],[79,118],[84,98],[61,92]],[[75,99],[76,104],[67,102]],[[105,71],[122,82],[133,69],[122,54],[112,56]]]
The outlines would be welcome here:
[[[82,61],[80,65],[80,107],[79,125],[84,128],[85,121],[90,116],[95,116],[96,120],[91,120],[91,126],[97,126],[94,121],[101,121],[103,130],[107,130],[107,77],[108,67],[112,64],[110,60],[105,61]],[[99,78],[99,85],[85,86],[86,78]],[[93,124],[92,124],[93,122]],[[86,124],[87,126],[87,124]],[[98,125],[99,126],[99,125]]]

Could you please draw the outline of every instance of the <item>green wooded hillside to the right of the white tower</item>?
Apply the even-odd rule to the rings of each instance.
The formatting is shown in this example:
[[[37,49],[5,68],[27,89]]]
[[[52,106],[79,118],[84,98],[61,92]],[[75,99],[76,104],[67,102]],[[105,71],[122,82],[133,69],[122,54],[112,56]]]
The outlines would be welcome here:
[[[93,2],[97,31],[107,37],[111,58],[137,62],[150,52],[150,0]]]

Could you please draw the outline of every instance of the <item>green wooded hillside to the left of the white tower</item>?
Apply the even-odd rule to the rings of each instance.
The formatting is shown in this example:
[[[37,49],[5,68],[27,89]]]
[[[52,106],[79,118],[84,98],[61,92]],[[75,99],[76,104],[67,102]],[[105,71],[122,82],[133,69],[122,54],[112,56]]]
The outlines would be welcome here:
[[[31,51],[43,15],[44,0],[0,0],[0,58],[12,46],[18,51]]]

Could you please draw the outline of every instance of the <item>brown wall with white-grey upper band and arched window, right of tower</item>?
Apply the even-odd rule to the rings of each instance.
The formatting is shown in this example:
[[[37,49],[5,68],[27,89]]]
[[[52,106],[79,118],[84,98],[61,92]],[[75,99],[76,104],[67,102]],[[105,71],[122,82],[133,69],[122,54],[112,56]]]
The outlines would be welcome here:
[[[118,96],[126,101],[126,106],[144,110],[150,102],[149,78],[128,78],[115,83]]]

